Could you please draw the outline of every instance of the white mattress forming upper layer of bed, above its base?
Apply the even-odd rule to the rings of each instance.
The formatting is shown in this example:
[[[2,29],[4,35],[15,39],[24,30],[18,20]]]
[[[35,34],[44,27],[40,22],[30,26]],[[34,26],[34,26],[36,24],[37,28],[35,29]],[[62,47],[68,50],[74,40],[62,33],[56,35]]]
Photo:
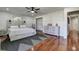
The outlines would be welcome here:
[[[9,35],[20,35],[20,34],[29,34],[35,33],[36,30],[32,28],[17,28],[17,29],[9,29]]]

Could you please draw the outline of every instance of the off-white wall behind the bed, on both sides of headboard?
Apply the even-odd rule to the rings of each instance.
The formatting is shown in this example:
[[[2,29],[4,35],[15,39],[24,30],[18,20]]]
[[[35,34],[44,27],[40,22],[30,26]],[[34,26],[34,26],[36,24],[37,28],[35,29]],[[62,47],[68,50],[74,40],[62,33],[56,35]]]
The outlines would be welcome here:
[[[14,19],[13,17],[18,17],[18,16],[10,14],[10,13],[6,13],[6,12],[0,12],[0,30],[1,29],[6,30],[7,29],[7,21],[10,19],[13,20]],[[27,16],[24,16],[24,17],[20,16],[20,17],[22,17],[22,20],[26,21],[27,26],[32,26],[32,23],[33,23],[32,17],[27,17]]]

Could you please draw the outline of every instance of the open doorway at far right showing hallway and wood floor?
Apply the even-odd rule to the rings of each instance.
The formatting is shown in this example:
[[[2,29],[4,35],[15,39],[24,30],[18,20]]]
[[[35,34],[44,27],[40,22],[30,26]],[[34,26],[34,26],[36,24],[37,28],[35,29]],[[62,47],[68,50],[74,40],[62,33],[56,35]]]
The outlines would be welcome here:
[[[79,15],[68,17],[68,50],[79,50]]]

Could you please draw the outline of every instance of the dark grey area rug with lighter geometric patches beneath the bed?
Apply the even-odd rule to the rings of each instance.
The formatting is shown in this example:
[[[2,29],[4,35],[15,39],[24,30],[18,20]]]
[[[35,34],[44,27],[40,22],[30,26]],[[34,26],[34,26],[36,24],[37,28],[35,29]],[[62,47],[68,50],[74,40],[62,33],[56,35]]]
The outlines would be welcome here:
[[[35,35],[32,37],[22,38],[20,40],[10,41],[9,39],[1,43],[1,50],[5,51],[24,51],[38,44],[40,41],[45,40],[48,35],[40,36]]]

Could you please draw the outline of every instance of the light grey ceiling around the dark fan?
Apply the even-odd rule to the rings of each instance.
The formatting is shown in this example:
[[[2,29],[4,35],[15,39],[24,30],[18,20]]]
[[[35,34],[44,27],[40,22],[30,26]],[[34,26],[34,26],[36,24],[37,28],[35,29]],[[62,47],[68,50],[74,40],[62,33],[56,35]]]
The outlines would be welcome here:
[[[40,8],[40,11],[37,14],[34,14],[33,16],[43,15],[64,9],[63,7],[37,7],[37,8]],[[25,7],[0,7],[0,12],[8,12],[18,16],[32,16],[32,14],[27,11],[28,10]]]

